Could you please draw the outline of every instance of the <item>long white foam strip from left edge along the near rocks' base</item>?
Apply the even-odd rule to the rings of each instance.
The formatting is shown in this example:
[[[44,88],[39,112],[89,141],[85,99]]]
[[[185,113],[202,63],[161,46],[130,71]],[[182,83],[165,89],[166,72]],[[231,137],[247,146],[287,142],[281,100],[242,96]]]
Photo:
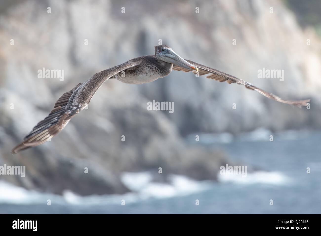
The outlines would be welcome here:
[[[152,182],[149,172],[130,173],[122,175],[123,183],[133,192],[118,195],[90,195],[79,196],[70,190],[65,190],[60,195],[27,190],[10,183],[0,181],[0,204],[46,204],[50,199],[51,204],[72,205],[107,205],[120,204],[122,199],[126,203],[141,201],[148,198],[167,198],[183,196],[209,188],[208,182],[195,181],[184,176],[171,175],[169,183]]]

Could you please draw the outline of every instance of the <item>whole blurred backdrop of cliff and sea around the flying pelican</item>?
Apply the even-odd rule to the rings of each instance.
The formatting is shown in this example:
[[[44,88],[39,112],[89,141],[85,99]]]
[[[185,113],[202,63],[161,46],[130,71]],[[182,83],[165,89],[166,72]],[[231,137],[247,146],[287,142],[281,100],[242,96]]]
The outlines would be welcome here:
[[[0,175],[0,213],[320,213],[320,1],[0,4],[0,166],[26,166],[24,178]],[[108,80],[51,142],[10,153],[64,92],[154,54],[160,39],[284,99],[310,98],[310,109],[192,73]],[[64,80],[38,78],[43,67]],[[284,81],[258,78],[263,68]],[[174,113],[147,110],[152,100]],[[226,164],[247,177],[221,175]]]

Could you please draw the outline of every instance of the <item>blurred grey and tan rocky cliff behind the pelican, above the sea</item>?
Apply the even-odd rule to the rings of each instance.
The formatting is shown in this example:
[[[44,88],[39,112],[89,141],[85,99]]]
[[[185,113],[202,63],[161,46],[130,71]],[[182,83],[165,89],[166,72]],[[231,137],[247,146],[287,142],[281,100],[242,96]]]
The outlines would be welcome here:
[[[158,173],[162,167],[164,177],[155,175],[156,181],[172,173],[215,179],[226,156],[188,147],[183,136],[321,126],[320,39],[313,29],[302,30],[280,1],[13,3],[3,4],[0,12],[0,165],[25,165],[27,174],[0,176],[6,181],[58,194],[64,189],[104,194],[128,191],[119,178],[123,171]],[[88,109],[51,142],[10,154],[61,94],[98,71],[153,54],[160,39],[186,59],[282,98],[311,98],[311,109],[292,108],[192,73],[173,71],[143,85],[108,80]],[[43,67],[63,69],[64,81],[39,79]],[[258,79],[263,68],[283,69],[284,81]],[[173,101],[174,113],[147,110],[153,99]]]

